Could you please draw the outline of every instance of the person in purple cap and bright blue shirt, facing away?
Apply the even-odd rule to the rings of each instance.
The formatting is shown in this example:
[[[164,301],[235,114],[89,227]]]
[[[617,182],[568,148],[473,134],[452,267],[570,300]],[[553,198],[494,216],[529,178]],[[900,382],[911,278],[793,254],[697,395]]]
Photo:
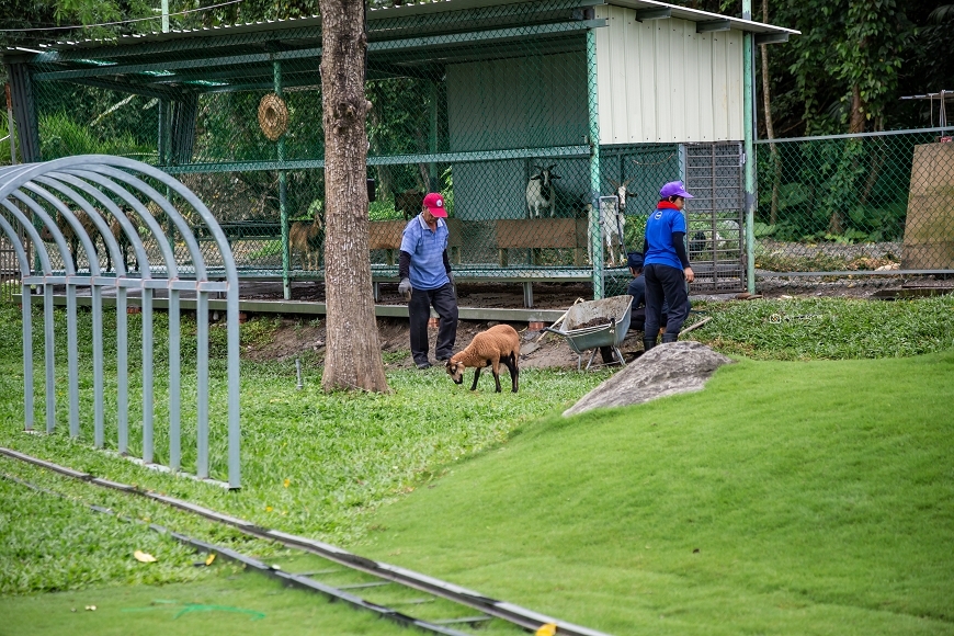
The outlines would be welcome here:
[[[692,195],[681,181],[672,181],[659,191],[659,204],[646,222],[643,243],[643,275],[646,279],[646,325],[643,348],[656,347],[662,306],[669,306],[662,342],[675,342],[689,316],[686,283],[695,280],[685,253],[685,216],[682,208]]]

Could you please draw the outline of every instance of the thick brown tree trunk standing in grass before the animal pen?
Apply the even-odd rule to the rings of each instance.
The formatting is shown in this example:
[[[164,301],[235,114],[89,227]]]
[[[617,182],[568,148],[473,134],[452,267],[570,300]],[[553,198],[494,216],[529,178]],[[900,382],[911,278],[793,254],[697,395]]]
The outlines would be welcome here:
[[[325,390],[387,391],[367,258],[364,2],[320,0],[328,307]]]

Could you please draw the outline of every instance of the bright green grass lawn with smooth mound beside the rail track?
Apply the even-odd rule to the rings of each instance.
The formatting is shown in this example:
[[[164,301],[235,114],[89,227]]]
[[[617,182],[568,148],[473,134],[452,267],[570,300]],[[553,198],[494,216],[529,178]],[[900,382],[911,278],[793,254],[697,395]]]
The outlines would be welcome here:
[[[388,374],[390,395],[326,395],[314,355],[303,357],[303,391],[295,390],[294,362],[243,363],[243,488],[226,492],[91,447],[88,314],[79,320],[87,413],[80,439],[69,440],[61,411],[61,311],[59,428],[54,435],[23,433],[19,313],[0,307],[0,445],[263,526],[373,552],[620,634],[647,626],[673,633],[951,633],[954,475],[947,457],[954,418],[947,417],[951,400],[943,396],[954,388],[954,298],[700,308],[713,321],[694,338],[766,361],[720,371],[694,396],[569,421],[556,413],[606,372],[526,370],[514,396],[489,393],[489,384],[472,394],[440,368],[398,371]],[[167,444],[163,320],[157,316],[160,461]],[[242,343],[268,343],[273,326],[243,325]],[[111,338],[107,332],[107,351]],[[213,354],[222,355],[224,330],[213,329],[212,338]],[[135,337],[129,350],[137,378]],[[192,355],[194,349],[184,347],[186,367]],[[111,364],[107,359],[107,370]],[[220,427],[226,410],[220,359],[213,361],[213,372],[211,410]],[[186,370],[183,386],[193,385]],[[135,421],[135,397],[133,405]],[[42,422],[42,400],[38,406]],[[194,461],[188,451],[194,435],[189,408],[186,462]],[[114,410],[107,398],[110,447],[115,447],[109,423]],[[137,443],[134,434],[134,451]],[[225,450],[220,443],[213,448],[222,477]],[[109,506],[262,558],[286,554],[160,504],[10,459],[0,459],[0,470],[78,502]],[[155,590],[139,586],[143,581],[208,583],[211,570],[175,566],[175,558],[189,557],[174,552],[169,554],[180,556],[163,559],[147,570],[151,578],[141,579],[136,567],[126,567],[129,527],[121,532],[102,520],[87,522],[77,512],[82,506],[31,496],[21,504],[9,486],[0,489],[5,594],[100,584]],[[18,514],[54,521],[34,527]],[[427,523],[413,521],[418,515]],[[98,549],[73,545],[72,535]],[[29,565],[4,567],[11,554]],[[55,557],[63,561],[44,569],[44,559],[57,563]],[[21,601],[27,603],[0,598],[0,614]],[[2,628],[0,622],[0,634]]]

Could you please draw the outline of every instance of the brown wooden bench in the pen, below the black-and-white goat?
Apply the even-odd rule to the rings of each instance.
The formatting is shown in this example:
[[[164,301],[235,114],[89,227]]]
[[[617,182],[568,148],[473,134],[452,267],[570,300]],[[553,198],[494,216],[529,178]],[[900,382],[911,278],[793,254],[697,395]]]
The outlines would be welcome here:
[[[497,248],[501,268],[510,262],[508,250],[532,250],[533,264],[538,264],[540,250],[561,248],[573,250],[573,265],[587,264],[589,229],[586,218],[530,218],[497,222]]]

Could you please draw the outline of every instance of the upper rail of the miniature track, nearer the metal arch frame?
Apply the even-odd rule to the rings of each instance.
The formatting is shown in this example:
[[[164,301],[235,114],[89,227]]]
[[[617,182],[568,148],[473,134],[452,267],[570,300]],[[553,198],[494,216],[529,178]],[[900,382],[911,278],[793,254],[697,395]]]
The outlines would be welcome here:
[[[89,473],[73,470],[72,468],[67,468],[66,466],[60,466],[58,464],[54,464],[53,462],[39,459],[38,457],[33,457],[31,455],[19,453],[16,451],[2,446],[0,446],[0,454],[7,455],[8,457],[12,457],[14,459],[19,459],[21,462],[42,466],[55,473],[59,473],[60,475],[72,477],[73,479],[79,479],[81,481],[87,481],[94,486],[120,490],[121,492],[126,492],[130,495],[138,495],[140,497],[146,497],[148,499],[152,499],[154,501],[159,501],[161,503],[166,503],[167,506],[171,506],[186,512],[198,514],[200,516],[204,516],[211,521],[230,525],[237,529],[239,532],[242,532],[243,534],[247,534],[249,536],[254,536],[257,538],[263,538],[266,541],[274,541],[286,547],[294,547],[304,552],[318,555],[348,568],[359,570],[381,579],[394,581],[401,586],[413,588],[416,590],[427,592],[434,597],[446,599],[459,605],[473,607],[490,616],[501,618],[503,621],[523,627],[524,629],[533,632],[540,628],[542,625],[554,624],[557,626],[556,633],[559,635],[565,634],[567,636],[609,636],[603,632],[590,629],[589,627],[582,627],[580,625],[575,625],[566,621],[560,621],[559,618],[547,616],[546,614],[541,614],[538,612],[527,610],[526,607],[521,607],[520,605],[515,605],[513,603],[498,601],[497,599],[485,597],[480,592],[475,592],[473,590],[468,590],[466,588],[455,586],[454,583],[448,583],[446,581],[442,581],[440,579],[435,579],[433,577],[429,577],[413,570],[408,570],[383,561],[376,561],[370,558],[365,558],[320,541],[284,533],[277,530],[261,527],[249,521],[230,516],[228,514],[222,514],[208,508],[196,506],[194,503],[190,503],[174,497],[167,497],[164,495],[144,490],[135,486],[128,486],[126,484],[120,484],[117,481],[102,479],[90,475]],[[315,581],[310,581],[309,587],[311,583],[315,583]]]

